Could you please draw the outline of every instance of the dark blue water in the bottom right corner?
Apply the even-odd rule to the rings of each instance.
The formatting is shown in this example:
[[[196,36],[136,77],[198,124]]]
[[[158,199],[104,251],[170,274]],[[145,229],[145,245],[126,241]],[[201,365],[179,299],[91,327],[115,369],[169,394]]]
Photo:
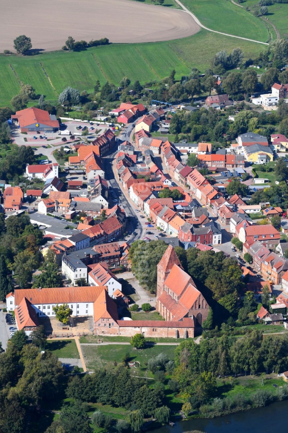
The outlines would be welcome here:
[[[150,432],[183,433],[200,430],[205,433],[287,433],[287,411],[288,401],[280,401],[225,417],[176,422],[174,427],[164,426]]]

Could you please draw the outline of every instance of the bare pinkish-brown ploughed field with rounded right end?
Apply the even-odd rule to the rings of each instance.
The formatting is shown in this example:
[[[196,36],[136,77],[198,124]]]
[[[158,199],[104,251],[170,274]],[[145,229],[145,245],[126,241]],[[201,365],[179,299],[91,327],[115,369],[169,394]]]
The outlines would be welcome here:
[[[182,10],[130,0],[0,0],[0,52],[26,35],[32,48],[59,50],[76,40],[156,42],[191,36],[200,30]],[[14,51],[14,50],[13,50]]]

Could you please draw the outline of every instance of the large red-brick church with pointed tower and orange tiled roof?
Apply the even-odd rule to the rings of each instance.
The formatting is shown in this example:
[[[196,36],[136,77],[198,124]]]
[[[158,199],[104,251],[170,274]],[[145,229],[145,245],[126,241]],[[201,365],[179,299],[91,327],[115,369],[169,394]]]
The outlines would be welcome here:
[[[192,278],[183,270],[171,245],[157,265],[156,310],[165,320],[194,320],[195,327],[207,319],[209,305],[196,288]]]

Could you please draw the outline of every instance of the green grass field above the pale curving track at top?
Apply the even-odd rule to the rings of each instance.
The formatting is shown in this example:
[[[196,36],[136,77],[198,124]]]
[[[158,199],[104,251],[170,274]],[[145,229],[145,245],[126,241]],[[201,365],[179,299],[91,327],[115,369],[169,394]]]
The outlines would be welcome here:
[[[269,31],[266,23],[244,8],[236,6],[230,0],[182,0],[191,12],[208,29],[231,35],[269,42]],[[272,30],[272,39],[276,35]],[[235,47],[238,41],[235,41]],[[221,47],[222,48],[222,47]]]

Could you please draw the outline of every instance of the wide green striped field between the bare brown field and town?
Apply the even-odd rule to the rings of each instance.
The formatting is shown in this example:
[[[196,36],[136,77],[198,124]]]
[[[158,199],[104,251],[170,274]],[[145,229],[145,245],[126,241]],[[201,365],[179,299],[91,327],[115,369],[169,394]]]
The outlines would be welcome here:
[[[132,82],[139,80],[144,84],[167,77],[172,69],[176,70],[176,79],[189,74],[191,68],[204,72],[216,52],[231,52],[235,47],[242,48],[245,58],[255,57],[264,48],[202,29],[188,38],[167,42],[111,44],[83,52],[55,51],[35,56],[2,55],[0,106],[10,104],[19,93],[19,81],[31,84],[36,94],[44,94],[55,102],[68,85],[91,92],[97,79],[101,84],[107,80],[119,84],[127,76]]]

